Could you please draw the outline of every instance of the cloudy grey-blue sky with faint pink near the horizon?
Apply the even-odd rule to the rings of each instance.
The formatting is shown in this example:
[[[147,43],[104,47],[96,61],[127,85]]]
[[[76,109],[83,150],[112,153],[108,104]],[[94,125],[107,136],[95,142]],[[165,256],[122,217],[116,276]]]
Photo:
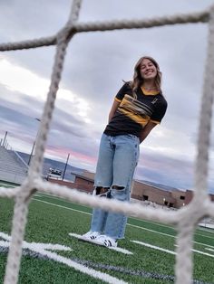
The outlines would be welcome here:
[[[80,22],[201,12],[213,0],[84,0]],[[0,42],[53,35],[72,0],[1,0]],[[69,44],[45,156],[95,170],[112,100],[142,55],[160,63],[169,107],[143,144],[137,179],[192,188],[208,24],[75,34]],[[0,139],[30,154],[50,84],[55,47],[0,52]],[[211,141],[213,145],[213,139]],[[209,186],[214,192],[213,147]]]

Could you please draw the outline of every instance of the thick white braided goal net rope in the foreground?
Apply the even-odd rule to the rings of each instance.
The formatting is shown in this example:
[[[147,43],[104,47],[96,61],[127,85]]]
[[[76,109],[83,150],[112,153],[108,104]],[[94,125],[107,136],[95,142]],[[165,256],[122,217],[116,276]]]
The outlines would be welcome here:
[[[197,223],[209,216],[214,218],[214,204],[208,194],[209,171],[209,140],[211,130],[212,102],[214,97],[214,5],[201,13],[175,14],[155,19],[122,20],[113,22],[78,23],[82,0],[73,0],[71,13],[67,23],[56,34],[50,37],[34,39],[18,43],[0,44],[0,51],[12,51],[56,45],[55,58],[50,88],[44,104],[44,112],[38,131],[33,156],[28,175],[23,185],[15,189],[0,187],[0,196],[15,199],[14,217],[12,224],[12,239],[5,269],[5,284],[15,284],[18,281],[20,262],[22,257],[22,242],[27,222],[28,205],[36,191],[54,194],[69,201],[102,208],[106,211],[125,213],[141,219],[162,222],[176,226],[178,229],[176,246],[175,276],[177,284],[192,282],[192,245],[193,234]],[[197,157],[194,168],[193,198],[190,204],[177,212],[166,212],[162,209],[142,207],[140,204],[121,203],[116,200],[100,199],[96,196],[71,190],[64,185],[53,185],[41,178],[44,150],[47,135],[53,117],[54,102],[59,88],[63,71],[63,62],[68,43],[75,33],[112,31],[120,29],[140,29],[164,26],[170,24],[208,23],[208,52],[205,66],[204,83],[201,97]],[[112,282],[113,283],[113,282]]]

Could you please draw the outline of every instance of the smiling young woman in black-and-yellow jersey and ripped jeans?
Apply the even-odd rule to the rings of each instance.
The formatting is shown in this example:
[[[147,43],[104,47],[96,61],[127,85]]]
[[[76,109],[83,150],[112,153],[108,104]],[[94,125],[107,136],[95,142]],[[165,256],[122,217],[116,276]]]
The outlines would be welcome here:
[[[130,200],[139,145],[167,109],[160,83],[158,63],[149,56],[141,57],[134,67],[133,79],[124,83],[113,101],[109,123],[102,134],[93,194]],[[91,229],[83,234],[83,239],[116,247],[117,240],[124,237],[126,222],[127,216],[122,213],[93,209]]]

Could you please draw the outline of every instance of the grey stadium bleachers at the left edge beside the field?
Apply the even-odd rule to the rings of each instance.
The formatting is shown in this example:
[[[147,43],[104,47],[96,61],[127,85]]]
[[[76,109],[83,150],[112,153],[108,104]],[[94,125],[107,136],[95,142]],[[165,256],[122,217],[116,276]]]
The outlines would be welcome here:
[[[21,185],[28,167],[12,150],[0,147],[0,180]]]

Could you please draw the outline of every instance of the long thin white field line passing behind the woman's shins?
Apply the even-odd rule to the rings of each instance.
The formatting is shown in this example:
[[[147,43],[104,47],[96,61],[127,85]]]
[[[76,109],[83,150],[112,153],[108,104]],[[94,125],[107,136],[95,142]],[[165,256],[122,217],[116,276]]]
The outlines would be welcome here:
[[[92,215],[92,213],[87,213],[87,212],[84,212],[84,211],[76,210],[76,209],[73,209],[73,208],[70,208],[70,207],[66,207],[66,206],[63,206],[63,205],[59,205],[59,204],[51,204],[51,203],[49,203],[47,201],[39,200],[39,199],[36,199],[36,198],[32,198],[32,200],[38,201],[38,202],[41,202],[41,203],[44,203],[44,204],[50,204],[50,205],[53,205],[53,206],[56,206],[56,207],[60,207],[60,208],[63,208],[63,209],[71,210],[71,211],[74,211],[74,212],[77,212],[77,213],[83,213],[83,214],[87,214],[87,215]],[[157,231],[154,231],[154,230],[151,230],[151,229],[147,229],[147,228],[143,228],[143,227],[140,227],[140,226],[137,226],[137,225],[133,225],[133,224],[131,224],[129,222],[127,223],[127,225],[131,226],[131,227],[134,227],[134,228],[138,228],[138,229],[144,230],[144,231],[159,233],[161,235],[164,235],[164,236],[167,236],[167,237],[170,237],[170,238],[174,238],[174,239],[177,238],[176,236],[170,235],[168,233],[157,232]],[[209,245],[207,243],[202,243],[202,242],[198,242],[198,241],[193,241],[193,243],[197,243],[197,244],[200,244],[200,245],[208,246],[210,248],[214,248],[214,246]]]

